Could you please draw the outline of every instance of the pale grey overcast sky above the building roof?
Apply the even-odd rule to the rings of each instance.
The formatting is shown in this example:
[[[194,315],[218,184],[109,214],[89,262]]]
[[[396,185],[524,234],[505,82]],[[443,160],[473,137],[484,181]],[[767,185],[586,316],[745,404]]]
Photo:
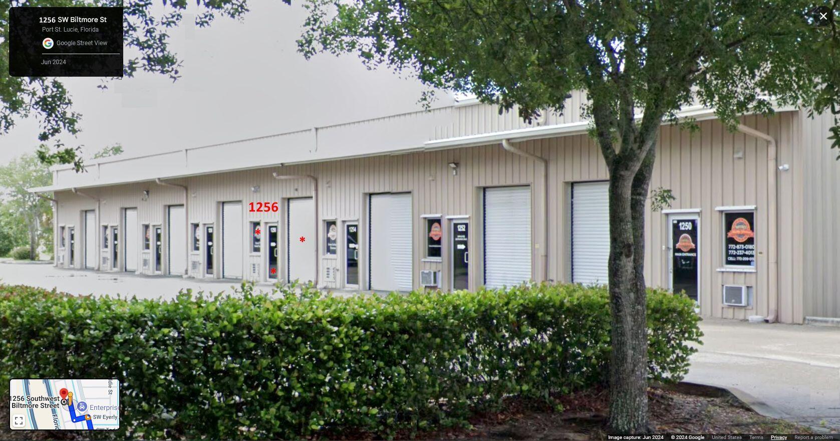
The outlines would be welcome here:
[[[102,92],[99,78],[63,79],[82,114],[81,134],[63,140],[84,144],[85,156],[113,143],[134,156],[421,108],[416,80],[366,71],[355,55],[304,60],[295,41],[305,11],[300,0],[292,3],[249,0],[242,22],[217,18],[207,29],[185,17],[171,31],[183,61],[175,83],[138,74],[109,81]],[[155,8],[164,8],[160,0]],[[451,101],[439,98],[436,105]],[[0,136],[0,161],[32,152],[38,133],[36,121],[18,120]]]

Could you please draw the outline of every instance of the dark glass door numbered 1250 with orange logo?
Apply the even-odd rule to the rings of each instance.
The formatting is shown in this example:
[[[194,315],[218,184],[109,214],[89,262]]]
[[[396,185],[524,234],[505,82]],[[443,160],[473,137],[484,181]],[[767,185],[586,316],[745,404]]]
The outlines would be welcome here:
[[[685,295],[697,300],[697,264],[699,263],[697,243],[697,219],[671,219],[671,277],[674,292],[685,291]]]

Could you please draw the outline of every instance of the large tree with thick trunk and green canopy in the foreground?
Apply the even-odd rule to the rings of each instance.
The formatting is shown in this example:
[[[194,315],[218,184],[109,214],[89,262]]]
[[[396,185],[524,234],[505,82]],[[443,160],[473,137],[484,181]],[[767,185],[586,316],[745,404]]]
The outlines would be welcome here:
[[[609,424],[648,429],[644,206],[659,126],[701,102],[733,128],[780,105],[818,112],[840,94],[836,25],[802,0],[307,0],[300,50],[356,53],[482,102],[585,114],[609,171]],[[838,0],[830,5],[837,15]],[[641,115],[641,116],[640,116]],[[840,134],[834,129],[835,136]],[[837,139],[840,144],[840,139]]]

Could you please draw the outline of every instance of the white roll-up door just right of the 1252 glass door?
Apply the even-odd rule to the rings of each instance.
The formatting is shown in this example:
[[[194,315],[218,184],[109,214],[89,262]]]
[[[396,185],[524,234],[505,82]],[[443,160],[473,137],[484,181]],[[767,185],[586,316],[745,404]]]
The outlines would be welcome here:
[[[517,286],[531,280],[531,188],[484,190],[484,284]]]

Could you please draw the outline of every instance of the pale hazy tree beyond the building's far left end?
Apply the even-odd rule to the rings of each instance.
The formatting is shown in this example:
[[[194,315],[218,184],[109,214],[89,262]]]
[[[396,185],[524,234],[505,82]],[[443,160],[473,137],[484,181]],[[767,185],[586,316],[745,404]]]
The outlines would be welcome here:
[[[46,221],[52,217],[52,206],[50,201],[30,193],[27,189],[49,186],[51,181],[52,176],[47,166],[35,155],[23,155],[0,167],[3,211],[26,226],[31,260],[38,259],[38,245],[43,238]]]

